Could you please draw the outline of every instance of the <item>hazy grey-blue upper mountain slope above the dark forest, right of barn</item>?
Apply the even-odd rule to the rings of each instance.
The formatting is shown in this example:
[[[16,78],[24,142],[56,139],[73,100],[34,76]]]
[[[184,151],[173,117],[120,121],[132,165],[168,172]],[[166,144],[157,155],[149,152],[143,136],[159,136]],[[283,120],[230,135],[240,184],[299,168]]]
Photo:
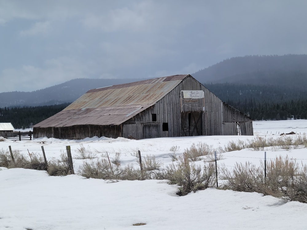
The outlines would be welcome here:
[[[244,82],[279,84],[276,79],[289,82],[292,75],[307,73],[307,55],[270,55],[232,57],[208,68],[193,73],[192,76],[204,83]],[[289,79],[290,78],[290,79]],[[300,78],[304,82],[307,79]]]

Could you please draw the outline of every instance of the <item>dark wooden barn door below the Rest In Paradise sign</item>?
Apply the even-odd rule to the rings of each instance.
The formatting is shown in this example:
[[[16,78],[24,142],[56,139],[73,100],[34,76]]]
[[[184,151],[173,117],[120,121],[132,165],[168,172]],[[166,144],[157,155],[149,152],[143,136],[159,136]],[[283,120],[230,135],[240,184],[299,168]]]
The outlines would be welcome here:
[[[203,135],[202,115],[202,112],[181,113],[181,136]]]

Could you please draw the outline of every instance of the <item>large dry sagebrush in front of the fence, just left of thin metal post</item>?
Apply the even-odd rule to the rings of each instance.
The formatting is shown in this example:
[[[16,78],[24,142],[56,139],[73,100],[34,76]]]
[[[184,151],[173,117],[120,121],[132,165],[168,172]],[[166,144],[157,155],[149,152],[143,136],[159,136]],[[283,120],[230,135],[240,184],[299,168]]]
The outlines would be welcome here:
[[[215,167],[212,163],[205,164],[202,168],[190,162],[186,153],[178,159],[178,165],[172,164],[166,167],[164,178],[180,186],[179,195],[184,196],[190,192],[212,187],[216,182]]]

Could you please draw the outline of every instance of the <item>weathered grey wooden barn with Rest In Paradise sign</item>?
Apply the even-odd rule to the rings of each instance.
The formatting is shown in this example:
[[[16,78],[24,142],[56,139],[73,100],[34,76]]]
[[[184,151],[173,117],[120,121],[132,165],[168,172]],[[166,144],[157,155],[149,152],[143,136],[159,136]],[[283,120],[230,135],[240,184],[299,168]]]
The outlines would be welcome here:
[[[35,138],[201,135],[253,135],[253,125],[191,75],[92,89],[33,126]]]

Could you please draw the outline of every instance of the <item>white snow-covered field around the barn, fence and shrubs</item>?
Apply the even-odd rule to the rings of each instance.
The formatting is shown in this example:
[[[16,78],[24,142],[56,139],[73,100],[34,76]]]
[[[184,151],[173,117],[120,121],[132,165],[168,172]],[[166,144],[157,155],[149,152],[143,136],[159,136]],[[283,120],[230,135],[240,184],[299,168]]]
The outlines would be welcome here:
[[[280,133],[307,132],[307,120],[255,121],[255,136],[278,138]],[[101,158],[108,152],[112,158],[120,154],[122,166],[136,163],[135,153],[142,157],[155,155],[163,165],[172,163],[170,148],[180,147],[180,155],[195,143],[214,148],[231,140],[251,140],[255,136],[197,136],[128,140],[124,138],[88,138],[58,140],[38,138],[32,141],[2,141],[0,149],[19,150],[59,157],[71,146],[72,156],[83,144]],[[266,149],[267,159],[288,155],[307,163],[306,149],[290,151]],[[235,162],[250,161],[259,165],[264,151],[244,149],[223,154],[218,165],[231,168]],[[75,172],[83,160],[73,159]],[[51,177],[45,171],[4,169],[0,171],[0,229],[307,229],[307,204],[287,202],[257,193],[210,188],[176,195],[176,185],[167,181],[119,181],[110,183],[85,179],[79,175]],[[136,223],[146,223],[133,226]]]

